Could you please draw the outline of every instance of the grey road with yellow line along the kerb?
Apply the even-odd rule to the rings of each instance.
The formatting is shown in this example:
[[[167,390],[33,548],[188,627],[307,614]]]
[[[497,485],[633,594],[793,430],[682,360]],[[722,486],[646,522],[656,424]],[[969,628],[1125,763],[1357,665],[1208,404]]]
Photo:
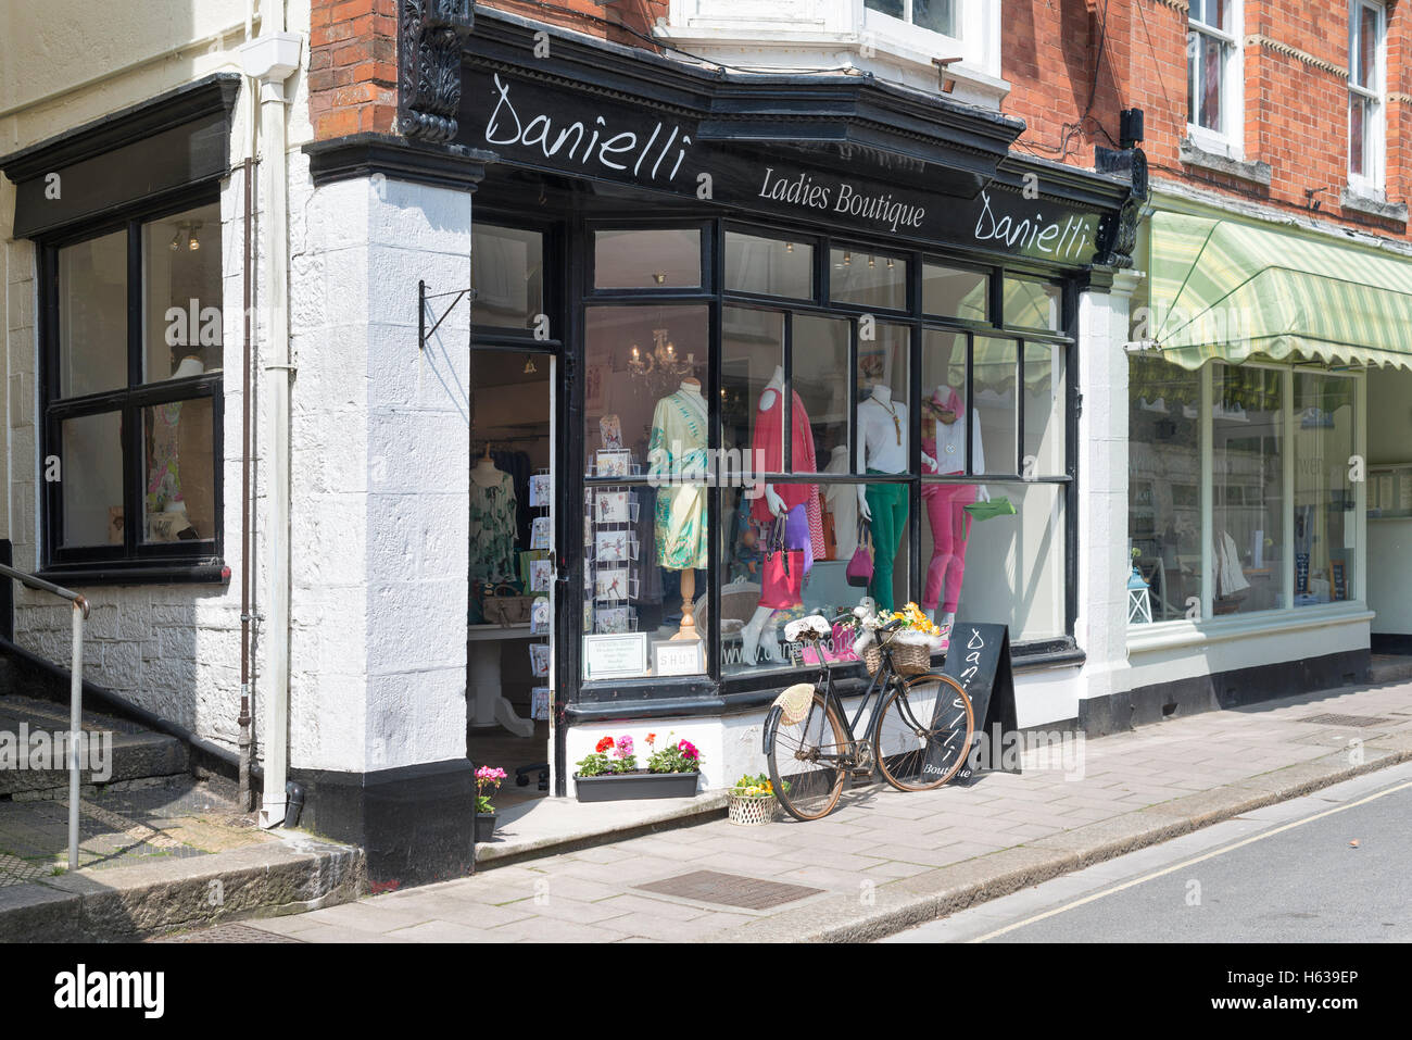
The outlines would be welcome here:
[[[1409,815],[1404,763],[882,941],[1408,942]]]

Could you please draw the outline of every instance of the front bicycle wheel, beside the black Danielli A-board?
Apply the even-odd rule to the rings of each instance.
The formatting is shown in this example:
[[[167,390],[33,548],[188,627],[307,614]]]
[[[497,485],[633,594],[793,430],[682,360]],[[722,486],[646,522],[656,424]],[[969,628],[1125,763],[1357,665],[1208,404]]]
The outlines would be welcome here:
[[[877,760],[899,791],[940,787],[966,762],[976,721],[970,698],[950,675],[895,682],[882,701]]]

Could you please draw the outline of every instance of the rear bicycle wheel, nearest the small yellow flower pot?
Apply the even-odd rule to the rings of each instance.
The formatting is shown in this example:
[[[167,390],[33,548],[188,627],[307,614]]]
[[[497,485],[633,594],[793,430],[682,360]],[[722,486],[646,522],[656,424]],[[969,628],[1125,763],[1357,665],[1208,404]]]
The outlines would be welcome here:
[[[788,723],[779,708],[765,721],[765,759],[770,783],[785,812],[795,820],[829,815],[843,793],[849,753],[847,732],[833,708],[818,692],[803,721]]]

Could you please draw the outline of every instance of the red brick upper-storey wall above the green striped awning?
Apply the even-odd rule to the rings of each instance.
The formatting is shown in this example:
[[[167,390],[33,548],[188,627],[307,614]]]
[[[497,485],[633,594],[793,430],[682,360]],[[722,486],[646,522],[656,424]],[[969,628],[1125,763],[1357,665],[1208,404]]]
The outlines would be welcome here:
[[[1268,162],[1268,187],[1183,164],[1186,136],[1186,11],[1159,0],[1108,0],[1101,59],[1104,0],[1003,0],[1001,73],[1011,83],[1003,110],[1028,124],[1019,138],[1045,158],[1093,165],[1093,147],[1111,147],[1118,110],[1145,113],[1152,174],[1214,189],[1289,212],[1367,230],[1406,236],[1406,228],[1344,211],[1339,194],[1348,181],[1348,82],[1319,64],[1264,44],[1244,48],[1244,150],[1247,161]],[[1405,0],[1388,6],[1388,93],[1406,93],[1412,75],[1412,31]],[[1241,37],[1267,37],[1347,72],[1348,8],[1344,0],[1245,0]],[[1090,89],[1097,82],[1090,105]],[[1389,98],[1387,114],[1387,198],[1412,191],[1412,105]],[[1310,196],[1309,191],[1317,189]]]

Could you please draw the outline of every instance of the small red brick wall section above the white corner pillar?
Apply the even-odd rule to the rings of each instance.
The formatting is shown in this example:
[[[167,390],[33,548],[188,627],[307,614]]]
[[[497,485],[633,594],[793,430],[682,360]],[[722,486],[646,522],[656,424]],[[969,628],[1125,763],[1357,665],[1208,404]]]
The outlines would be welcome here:
[[[323,140],[397,122],[397,0],[312,0],[309,120]]]

